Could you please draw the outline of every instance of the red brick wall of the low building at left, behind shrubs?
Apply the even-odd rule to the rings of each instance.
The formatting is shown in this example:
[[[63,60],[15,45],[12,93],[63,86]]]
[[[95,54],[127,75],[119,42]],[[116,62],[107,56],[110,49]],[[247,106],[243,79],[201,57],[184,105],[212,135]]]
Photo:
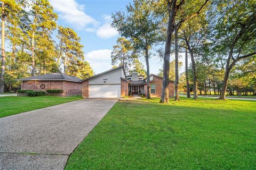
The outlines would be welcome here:
[[[41,89],[41,84],[45,85],[44,89]],[[81,95],[82,83],[70,82],[70,81],[23,81],[22,90],[36,90],[46,91],[48,89],[61,89],[63,90],[62,96],[74,96]]]

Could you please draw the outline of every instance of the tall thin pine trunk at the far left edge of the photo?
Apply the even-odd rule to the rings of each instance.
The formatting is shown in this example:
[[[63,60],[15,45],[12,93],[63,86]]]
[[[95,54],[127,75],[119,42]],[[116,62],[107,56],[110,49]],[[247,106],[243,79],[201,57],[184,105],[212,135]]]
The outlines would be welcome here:
[[[2,66],[0,75],[0,94],[4,93],[4,73],[5,73],[5,18],[4,3],[2,2]]]

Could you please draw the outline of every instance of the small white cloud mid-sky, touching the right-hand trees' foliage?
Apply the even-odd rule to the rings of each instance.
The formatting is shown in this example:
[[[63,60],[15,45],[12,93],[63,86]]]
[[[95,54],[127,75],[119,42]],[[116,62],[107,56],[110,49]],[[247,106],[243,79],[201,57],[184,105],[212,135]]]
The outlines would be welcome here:
[[[97,36],[101,38],[111,38],[118,35],[117,30],[110,26],[112,21],[111,16],[103,15],[103,18],[105,19],[105,23],[101,25],[101,27],[99,27],[99,29],[96,31]]]

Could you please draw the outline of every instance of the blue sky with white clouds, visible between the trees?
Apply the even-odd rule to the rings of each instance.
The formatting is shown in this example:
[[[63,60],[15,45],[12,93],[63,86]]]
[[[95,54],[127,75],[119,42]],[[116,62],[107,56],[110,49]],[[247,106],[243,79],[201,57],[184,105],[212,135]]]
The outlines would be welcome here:
[[[111,69],[110,54],[118,32],[110,27],[111,14],[124,11],[129,0],[50,0],[54,12],[59,15],[58,25],[74,29],[81,37],[85,61],[89,62],[94,73]],[[183,56],[183,54],[182,54]],[[171,60],[173,60],[171,56]],[[184,57],[180,58],[183,62]],[[144,66],[143,56],[140,61]],[[185,65],[185,61],[183,62]],[[149,59],[150,73],[157,74],[163,63],[154,54]],[[145,67],[146,70],[146,67]],[[182,67],[181,72],[184,68]]]

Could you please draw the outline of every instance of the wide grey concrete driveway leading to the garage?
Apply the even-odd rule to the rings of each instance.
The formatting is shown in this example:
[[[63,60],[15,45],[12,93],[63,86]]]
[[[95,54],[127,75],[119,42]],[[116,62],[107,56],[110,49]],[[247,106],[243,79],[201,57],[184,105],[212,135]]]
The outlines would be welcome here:
[[[0,118],[0,169],[63,169],[116,101],[84,99]]]

